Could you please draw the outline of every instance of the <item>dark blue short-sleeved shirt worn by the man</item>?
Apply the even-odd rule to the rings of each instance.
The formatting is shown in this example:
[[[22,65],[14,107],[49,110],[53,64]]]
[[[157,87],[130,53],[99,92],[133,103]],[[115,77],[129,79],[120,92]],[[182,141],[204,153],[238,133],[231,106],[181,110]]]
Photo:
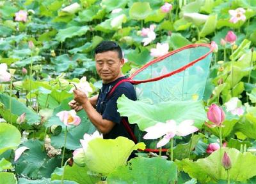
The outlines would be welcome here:
[[[113,129],[111,129],[108,134],[104,135],[104,139],[115,139],[118,136],[124,136],[131,139],[131,136],[121,122],[122,117],[120,117],[120,114],[117,111],[116,101],[118,97],[122,96],[122,94],[124,94],[127,98],[136,101],[136,92],[133,85],[128,81],[120,83],[120,85],[115,88],[111,96],[108,97],[108,93],[110,92],[111,88],[115,86],[118,81],[123,80],[124,78],[125,76],[122,76],[111,83],[103,84],[102,88],[100,89],[96,110],[100,113],[100,115],[102,115],[103,119],[110,120],[111,122],[115,123]],[[134,129],[134,125],[130,125],[130,127],[132,130]]]

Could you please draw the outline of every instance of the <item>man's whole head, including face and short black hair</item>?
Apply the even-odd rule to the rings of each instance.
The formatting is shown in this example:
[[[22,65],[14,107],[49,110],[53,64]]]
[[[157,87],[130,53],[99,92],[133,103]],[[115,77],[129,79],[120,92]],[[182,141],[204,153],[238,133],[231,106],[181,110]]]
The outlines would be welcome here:
[[[96,70],[103,83],[115,81],[122,74],[124,59],[120,46],[114,41],[102,41],[95,48]]]

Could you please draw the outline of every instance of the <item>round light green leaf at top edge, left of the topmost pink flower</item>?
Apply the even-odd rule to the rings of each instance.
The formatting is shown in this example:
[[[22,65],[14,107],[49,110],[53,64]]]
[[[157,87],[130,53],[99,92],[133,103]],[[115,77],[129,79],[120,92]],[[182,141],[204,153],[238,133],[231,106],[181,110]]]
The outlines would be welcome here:
[[[129,16],[135,20],[143,20],[150,15],[151,11],[152,9],[148,2],[136,2],[131,6]]]

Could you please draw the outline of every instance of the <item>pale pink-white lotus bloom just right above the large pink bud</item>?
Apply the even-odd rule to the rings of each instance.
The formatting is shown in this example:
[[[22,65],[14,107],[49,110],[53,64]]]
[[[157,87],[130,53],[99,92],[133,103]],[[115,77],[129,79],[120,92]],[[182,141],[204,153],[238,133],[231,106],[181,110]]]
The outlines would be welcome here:
[[[239,106],[240,104],[240,106]],[[241,116],[244,114],[243,108],[241,108],[241,101],[237,97],[232,97],[227,103],[224,104],[226,106],[226,110],[232,115]]]

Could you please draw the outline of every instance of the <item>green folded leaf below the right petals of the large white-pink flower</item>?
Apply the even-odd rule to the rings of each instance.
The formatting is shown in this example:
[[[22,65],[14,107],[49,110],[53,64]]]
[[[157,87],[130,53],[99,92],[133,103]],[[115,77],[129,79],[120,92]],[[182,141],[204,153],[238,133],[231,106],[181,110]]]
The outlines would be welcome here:
[[[175,146],[173,148],[173,158],[178,160],[188,158],[189,153],[192,153],[192,151],[195,149],[196,144],[201,138],[202,136],[200,135],[194,135],[188,143],[178,144],[177,146]]]

